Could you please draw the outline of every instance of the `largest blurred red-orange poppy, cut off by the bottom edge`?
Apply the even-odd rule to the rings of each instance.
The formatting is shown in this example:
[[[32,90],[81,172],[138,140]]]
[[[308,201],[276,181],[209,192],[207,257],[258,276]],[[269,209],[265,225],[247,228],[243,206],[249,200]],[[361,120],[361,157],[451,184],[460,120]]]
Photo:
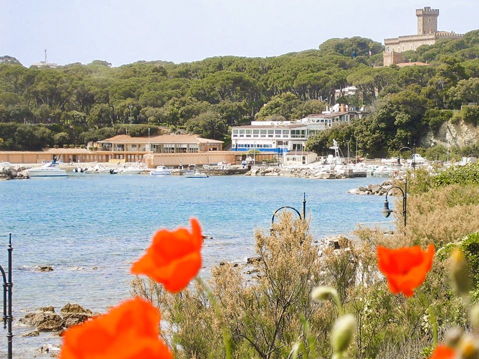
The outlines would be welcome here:
[[[60,359],[171,359],[159,339],[160,313],[132,299],[63,334]]]

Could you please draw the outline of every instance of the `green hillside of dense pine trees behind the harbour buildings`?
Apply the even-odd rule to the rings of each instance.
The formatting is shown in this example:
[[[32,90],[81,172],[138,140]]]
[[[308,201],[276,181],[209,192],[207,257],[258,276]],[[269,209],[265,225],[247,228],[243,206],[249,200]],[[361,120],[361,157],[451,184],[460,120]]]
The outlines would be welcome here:
[[[133,124],[149,124],[154,131],[159,125],[228,140],[231,125],[316,113],[334,103],[335,89],[355,85],[358,94],[341,102],[372,104],[375,111],[347,131],[358,137],[361,149],[374,152],[420,137],[429,124],[447,119],[444,110],[479,102],[479,30],[404,53],[432,66],[374,67],[382,64],[382,51],[378,42],[353,37],[276,57],[181,64],[111,67],[96,60],[39,69],[3,56],[0,149],[85,144],[124,133],[130,111]]]

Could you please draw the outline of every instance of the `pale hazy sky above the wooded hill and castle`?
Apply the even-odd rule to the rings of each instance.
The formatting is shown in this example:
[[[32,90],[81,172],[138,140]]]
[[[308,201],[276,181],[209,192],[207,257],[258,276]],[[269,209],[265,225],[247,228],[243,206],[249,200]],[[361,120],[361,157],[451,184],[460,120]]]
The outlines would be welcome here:
[[[424,6],[440,9],[440,30],[479,28],[477,0],[0,0],[0,56],[25,66],[45,48],[61,65],[274,56],[331,37],[414,34]]]

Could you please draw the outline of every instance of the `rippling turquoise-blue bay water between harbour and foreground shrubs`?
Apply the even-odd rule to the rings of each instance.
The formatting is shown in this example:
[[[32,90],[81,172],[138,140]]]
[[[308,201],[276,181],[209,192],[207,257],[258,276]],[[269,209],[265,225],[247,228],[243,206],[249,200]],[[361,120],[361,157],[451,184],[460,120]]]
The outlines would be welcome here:
[[[0,263],[6,264],[11,232],[15,317],[41,306],[59,311],[68,302],[101,312],[127,298],[131,262],[155,230],[189,225],[190,216],[213,236],[205,240],[203,275],[215,263],[253,255],[254,229],[268,229],[273,211],[282,205],[301,211],[303,192],[311,232],[318,238],[349,232],[358,222],[382,221],[383,197],[347,194],[377,181],[139,175],[1,181]],[[54,270],[34,271],[38,265]],[[14,334],[28,330],[15,327]],[[14,348],[30,350],[55,341],[45,335],[15,337]],[[0,353],[3,344],[0,330]]]

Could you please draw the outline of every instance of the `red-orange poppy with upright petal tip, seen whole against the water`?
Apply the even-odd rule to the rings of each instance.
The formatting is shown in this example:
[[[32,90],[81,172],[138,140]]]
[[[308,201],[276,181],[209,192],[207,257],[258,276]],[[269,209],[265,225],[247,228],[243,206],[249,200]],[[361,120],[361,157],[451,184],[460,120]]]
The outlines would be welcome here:
[[[184,289],[201,268],[203,235],[198,220],[191,218],[190,222],[191,232],[186,228],[156,232],[153,243],[133,264],[131,272],[163,283],[172,293]]]

